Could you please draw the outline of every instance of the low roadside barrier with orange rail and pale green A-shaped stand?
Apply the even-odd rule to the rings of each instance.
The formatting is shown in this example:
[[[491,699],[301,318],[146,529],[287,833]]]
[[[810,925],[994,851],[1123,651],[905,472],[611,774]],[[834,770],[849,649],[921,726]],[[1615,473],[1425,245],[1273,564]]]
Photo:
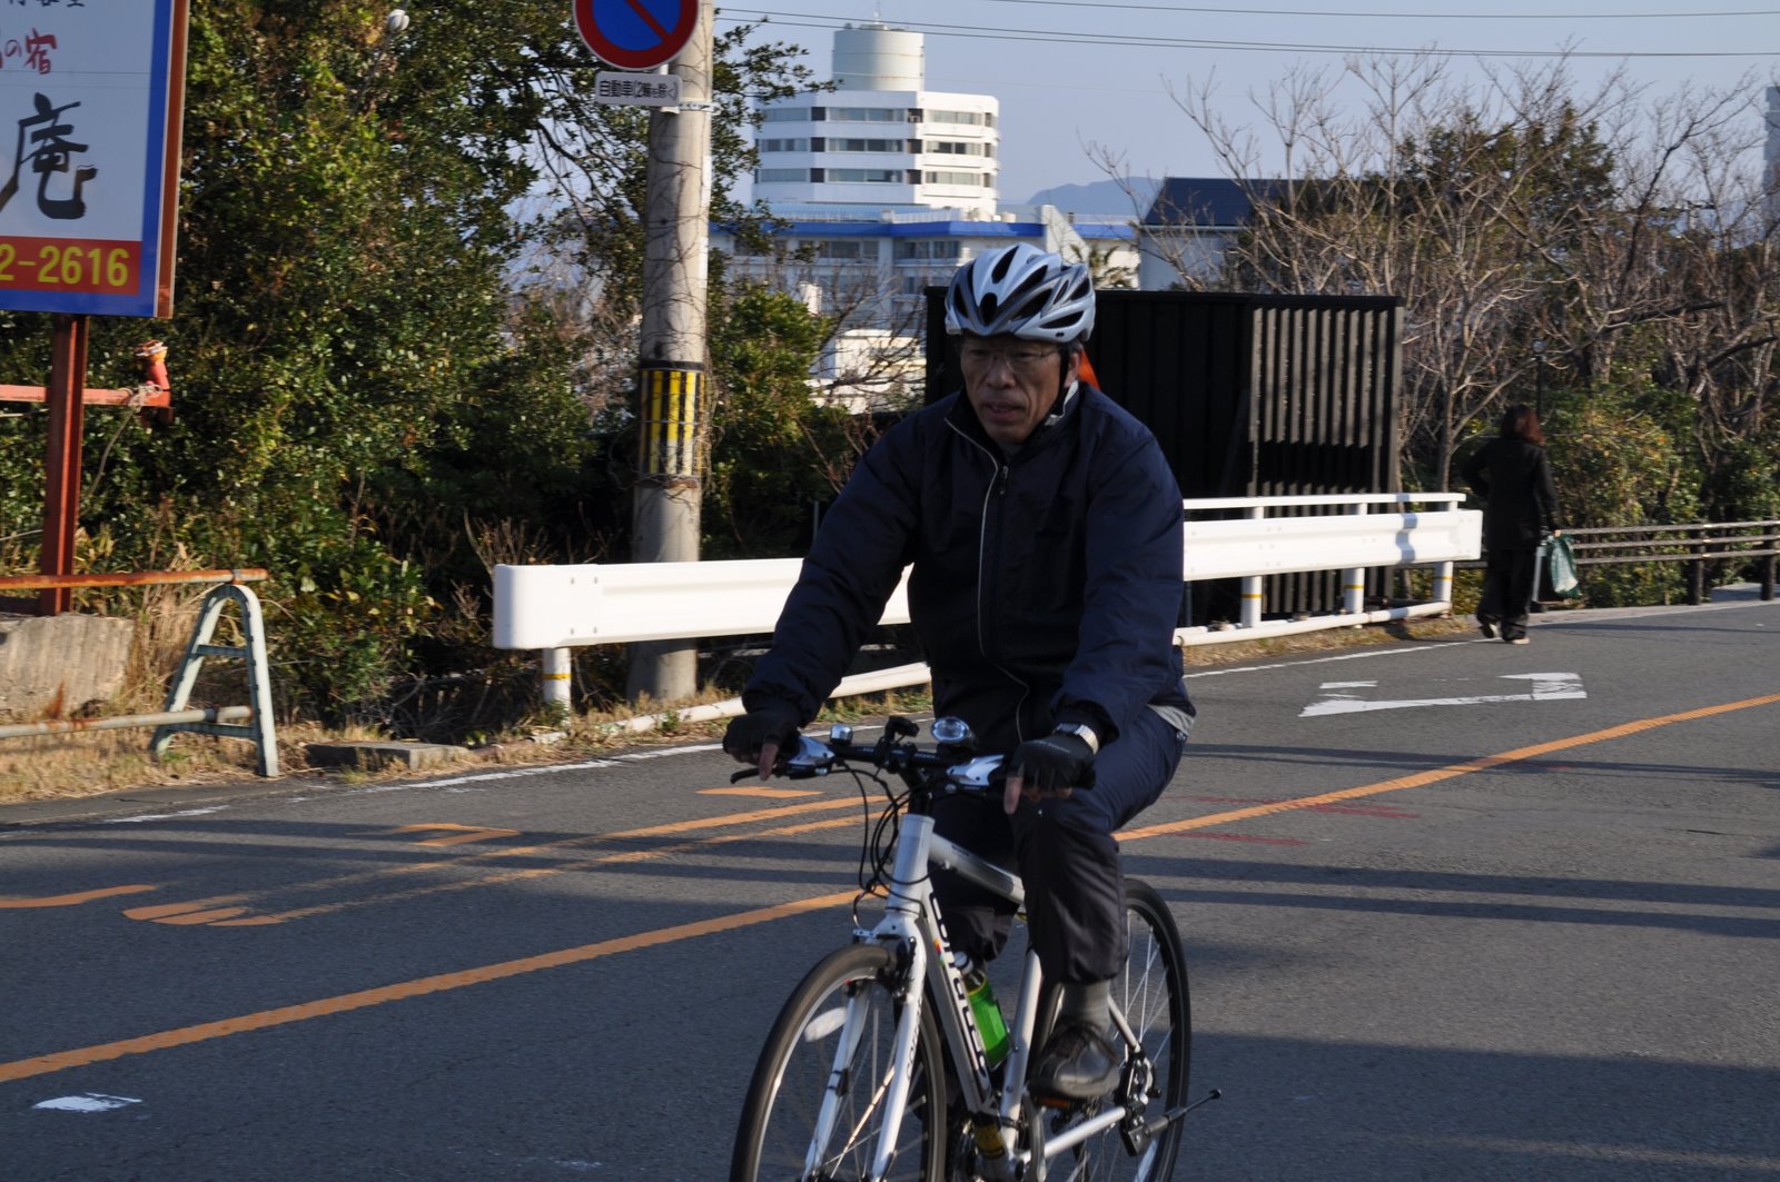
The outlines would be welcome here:
[[[272,678],[265,662],[265,619],[260,612],[260,600],[244,586],[260,582],[265,571],[260,568],[244,570],[199,570],[199,571],[137,571],[125,575],[11,575],[0,577],[0,595],[7,591],[55,591],[78,587],[148,587],[176,584],[219,584],[212,587],[198,609],[198,623],[192,627],[185,655],[167,689],[167,701],[160,714],[130,714],[109,719],[48,719],[39,723],[14,723],[0,726],[0,739],[25,739],[30,735],[59,735],[85,730],[125,730],[153,726],[155,737],[150,751],[155,757],[166,755],[173,735],[182,732],[203,735],[224,735],[246,739],[256,748],[256,769],[262,776],[278,774],[278,735],[272,730]],[[240,644],[212,644],[222,609],[235,603],[239,609]],[[190,708],[192,689],[198,685],[198,673],[208,657],[231,657],[247,666],[247,701],[246,707],[208,707]]]

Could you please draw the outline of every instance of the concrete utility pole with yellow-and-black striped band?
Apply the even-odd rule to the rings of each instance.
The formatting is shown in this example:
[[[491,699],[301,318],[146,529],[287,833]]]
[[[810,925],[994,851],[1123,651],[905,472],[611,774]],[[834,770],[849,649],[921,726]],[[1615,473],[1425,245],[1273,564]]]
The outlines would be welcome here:
[[[643,336],[637,349],[639,479],[632,559],[696,563],[705,468],[705,288],[710,240],[710,89],[714,0],[673,62],[678,109],[650,112],[644,199]],[[630,646],[627,691],[676,701],[698,692],[698,644]]]

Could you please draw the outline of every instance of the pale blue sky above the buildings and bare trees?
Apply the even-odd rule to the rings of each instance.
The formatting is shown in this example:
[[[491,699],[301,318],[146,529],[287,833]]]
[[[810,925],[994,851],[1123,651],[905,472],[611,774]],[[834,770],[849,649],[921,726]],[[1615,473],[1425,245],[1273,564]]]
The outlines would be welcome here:
[[[927,89],[1000,100],[1000,199],[1130,176],[1219,176],[1173,94],[1210,85],[1226,119],[1258,125],[1251,94],[1294,66],[1339,69],[1353,53],[1435,50],[1454,69],[1549,62],[1568,52],[1579,91],[1623,68],[1650,94],[1725,87],[1752,101],[1780,82],[1780,7],[1760,0],[1274,0],[1198,7],[1164,0],[719,0],[717,30],[767,18],[756,39],[808,50],[828,78],[833,30],[879,20],[926,34]],[[1266,0],[1262,0],[1266,2]],[[1769,0],[1775,2],[1775,0]],[[1230,0],[1226,0],[1230,4]],[[1693,9],[1693,11],[1689,11]],[[1759,107],[1752,107],[1755,135]],[[1266,135],[1262,135],[1266,146]]]

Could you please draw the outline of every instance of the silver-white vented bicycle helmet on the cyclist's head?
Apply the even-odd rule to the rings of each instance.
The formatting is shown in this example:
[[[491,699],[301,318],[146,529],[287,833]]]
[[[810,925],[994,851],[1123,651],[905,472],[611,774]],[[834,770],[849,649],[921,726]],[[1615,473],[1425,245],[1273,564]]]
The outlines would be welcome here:
[[[1025,242],[977,255],[952,274],[945,292],[949,336],[1006,333],[1068,345],[1093,329],[1095,281],[1088,267]]]

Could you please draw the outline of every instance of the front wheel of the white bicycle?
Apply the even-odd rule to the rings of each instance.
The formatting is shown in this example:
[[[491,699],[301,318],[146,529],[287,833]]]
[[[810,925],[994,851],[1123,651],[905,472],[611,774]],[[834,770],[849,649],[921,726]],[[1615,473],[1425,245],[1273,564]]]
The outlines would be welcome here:
[[[822,959],[785,1002],[748,1084],[732,1182],[858,1182],[870,1171],[895,1070],[902,1006],[888,949],[856,943]],[[927,1006],[885,1175],[940,1182],[945,1168],[945,1063]],[[828,1111],[824,1113],[824,1105]]]

